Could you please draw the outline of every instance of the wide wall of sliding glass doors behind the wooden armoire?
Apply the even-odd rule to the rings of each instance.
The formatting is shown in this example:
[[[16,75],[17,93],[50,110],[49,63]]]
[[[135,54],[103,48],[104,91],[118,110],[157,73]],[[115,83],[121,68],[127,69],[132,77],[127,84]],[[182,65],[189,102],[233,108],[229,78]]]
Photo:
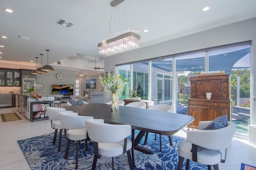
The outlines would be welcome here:
[[[131,87],[137,90],[137,95],[141,99],[154,101],[154,104],[174,106],[175,112],[182,114],[188,113],[191,76],[209,71],[224,71],[225,74],[230,74],[231,121],[237,124],[236,133],[246,136],[252,101],[250,61],[248,41],[159,57],[152,61],[127,64],[118,68],[126,79],[132,77]],[[128,91],[127,86],[124,96],[127,96]]]

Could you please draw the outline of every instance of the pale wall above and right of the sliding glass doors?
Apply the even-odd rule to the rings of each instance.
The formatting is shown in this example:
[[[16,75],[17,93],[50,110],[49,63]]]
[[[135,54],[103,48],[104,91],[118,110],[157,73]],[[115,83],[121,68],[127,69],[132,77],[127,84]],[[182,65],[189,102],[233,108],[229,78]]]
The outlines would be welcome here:
[[[182,25],[181,25],[182,26]],[[116,64],[161,57],[176,53],[182,53],[207,47],[226,45],[242,41],[252,40],[251,48],[251,72],[252,85],[251,96],[256,96],[256,90],[253,89],[254,80],[256,80],[256,71],[253,66],[256,65],[256,18],[244,20],[229,25],[224,25],[207,31],[202,31],[185,37],[180,37],[163,43],[158,43],[148,47],[140,48],[134,51],[128,51],[119,55],[105,58],[105,71],[115,70]],[[256,104],[251,100],[251,123],[256,124],[256,113],[254,108]]]

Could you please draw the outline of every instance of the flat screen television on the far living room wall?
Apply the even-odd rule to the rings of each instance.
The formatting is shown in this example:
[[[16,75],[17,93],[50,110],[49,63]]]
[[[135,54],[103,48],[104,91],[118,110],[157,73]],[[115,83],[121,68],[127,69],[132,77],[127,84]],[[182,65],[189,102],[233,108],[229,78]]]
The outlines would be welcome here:
[[[52,84],[52,94],[74,95],[73,84]]]

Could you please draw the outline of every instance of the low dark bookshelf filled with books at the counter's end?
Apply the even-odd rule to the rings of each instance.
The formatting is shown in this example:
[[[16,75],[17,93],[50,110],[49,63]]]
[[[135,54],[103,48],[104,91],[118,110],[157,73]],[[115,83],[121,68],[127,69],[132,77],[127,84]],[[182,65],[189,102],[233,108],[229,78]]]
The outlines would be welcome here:
[[[30,102],[30,121],[47,119],[47,107],[53,107],[54,101]]]

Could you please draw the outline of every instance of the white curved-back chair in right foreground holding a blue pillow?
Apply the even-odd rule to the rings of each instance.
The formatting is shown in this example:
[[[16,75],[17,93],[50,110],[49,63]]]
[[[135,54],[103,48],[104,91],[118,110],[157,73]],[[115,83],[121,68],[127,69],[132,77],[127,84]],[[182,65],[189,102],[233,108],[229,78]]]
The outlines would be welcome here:
[[[207,165],[208,170],[212,169],[211,165],[218,170],[218,163],[225,162],[226,151],[236,131],[236,124],[228,121],[227,127],[202,130],[210,122],[200,121],[198,131],[187,131],[187,139],[181,141],[178,146],[178,170],[182,170],[184,158],[187,159],[186,170],[190,160]],[[198,146],[203,148],[198,149]]]

